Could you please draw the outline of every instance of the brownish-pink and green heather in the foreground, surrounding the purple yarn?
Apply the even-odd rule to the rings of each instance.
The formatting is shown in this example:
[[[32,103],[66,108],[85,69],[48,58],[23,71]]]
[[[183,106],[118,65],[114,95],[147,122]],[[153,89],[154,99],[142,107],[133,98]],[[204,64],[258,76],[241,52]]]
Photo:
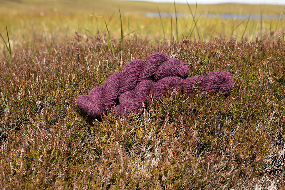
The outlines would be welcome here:
[[[108,34],[77,33],[19,47],[12,64],[1,56],[1,189],[284,188],[283,36],[154,45],[135,35],[113,56]],[[165,93],[129,119],[78,109],[79,95],[153,52],[189,63],[189,77],[226,71],[233,89]]]

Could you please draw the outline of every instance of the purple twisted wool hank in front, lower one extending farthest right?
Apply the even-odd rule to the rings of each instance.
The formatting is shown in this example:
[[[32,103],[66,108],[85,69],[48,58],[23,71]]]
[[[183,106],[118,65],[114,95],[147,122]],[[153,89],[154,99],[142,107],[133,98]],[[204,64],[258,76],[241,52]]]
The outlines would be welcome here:
[[[115,107],[119,115],[128,117],[130,111],[139,112],[146,104],[146,98],[152,92],[152,97],[158,99],[166,92],[166,87],[182,90],[190,93],[197,86],[203,89],[203,93],[223,93],[228,95],[233,88],[233,78],[225,71],[214,71],[207,76],[194,76],[182,79],[180,77],[165,77],[157,82],[151,80],[141,81],[134,90],[127,91],[120,96],[120,104]]]

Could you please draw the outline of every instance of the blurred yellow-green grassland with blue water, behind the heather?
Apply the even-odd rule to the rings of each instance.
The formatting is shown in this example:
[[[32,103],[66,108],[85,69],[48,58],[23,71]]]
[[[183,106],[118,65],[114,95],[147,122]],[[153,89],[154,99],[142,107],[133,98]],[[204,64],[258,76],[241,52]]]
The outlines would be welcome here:
[[[82,35],[107,34],[105,19],[111,38],[120,39],[119,8],[123,36],[137,34],[154,44],[169,42],[172,37],[182,40],[183,35],[204,41],[217,37],[252,40],[262,35],[273,39],[285,28],[281,5],[14,0],[0,1],[0,32],[8,43],[7,24],[13,50],[17,45],[64,42],[66,37],[74,37],[75,31]],[[0,48],[7,54],[4,43]]]

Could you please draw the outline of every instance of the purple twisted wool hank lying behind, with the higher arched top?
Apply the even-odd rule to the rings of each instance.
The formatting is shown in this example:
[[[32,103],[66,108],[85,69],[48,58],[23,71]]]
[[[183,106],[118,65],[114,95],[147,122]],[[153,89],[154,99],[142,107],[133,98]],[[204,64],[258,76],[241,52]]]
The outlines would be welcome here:
[[[91,117],[100,117],[107,109],[115,105],[118,97],[134,89],[138,83],[156,77],[176,76],[185,78],[189,75],[188,64],[177,58],[170,58],[165,53],[153,53],[146,60],[133,60],[125,65],[122,72],[107,78],[104,85],[94,87],[89,95],[80,95],[76,103],[79,109]]]

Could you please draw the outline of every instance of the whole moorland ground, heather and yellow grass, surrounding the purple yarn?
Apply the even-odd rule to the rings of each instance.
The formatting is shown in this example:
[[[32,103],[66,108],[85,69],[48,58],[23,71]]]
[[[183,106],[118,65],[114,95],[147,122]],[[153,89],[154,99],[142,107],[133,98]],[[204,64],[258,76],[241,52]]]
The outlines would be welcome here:
[[[190,16],[176,25],[143,15],[157,11],[151,3],[110,1],[107,12],[99,1],[46,2],[1,1],[1,189],[284,189],[284,20]],[[252,14],[283,15],[262,6]],[[158,4],[161,13],[173,7]],[[189,77],[227,71],[234,87],[227,97],[166,94],[128,120],[114,108],[97,119],[80,112],[79,95],[153,52],[188,62]]]

